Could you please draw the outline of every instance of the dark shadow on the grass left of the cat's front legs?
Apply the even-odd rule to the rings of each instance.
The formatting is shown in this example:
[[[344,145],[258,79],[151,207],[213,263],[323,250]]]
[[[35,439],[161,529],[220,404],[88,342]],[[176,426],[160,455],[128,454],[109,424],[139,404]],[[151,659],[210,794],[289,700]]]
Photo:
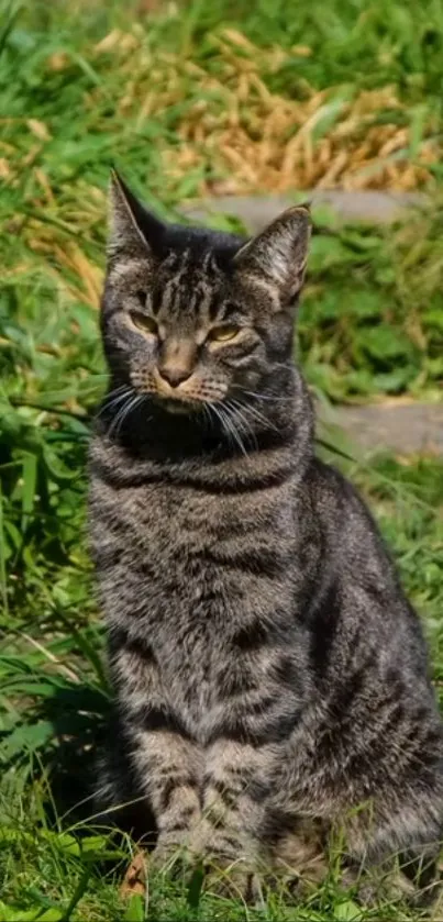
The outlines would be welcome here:
[[[147,846],[155,843],[155,824],[136,790],[123,732],[101,689],[65,680],[51,696],[38,699],[15,734],[20,731],[23,737],[27,735],[31,778],[44,782],[42,799],[49,827],[81,836],[114,830]],[[23,764],[24,757],[24,749],[12,754],[5,768]],[[113,789],[113,804],[111,791],[102,790],[106,781]]]

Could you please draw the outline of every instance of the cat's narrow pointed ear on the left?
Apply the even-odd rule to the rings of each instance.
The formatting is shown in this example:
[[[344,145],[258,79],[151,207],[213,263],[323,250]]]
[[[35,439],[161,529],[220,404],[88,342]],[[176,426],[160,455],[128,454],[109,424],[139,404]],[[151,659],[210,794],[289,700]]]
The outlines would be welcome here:
[[[165,226],[141,204],[115,170],[109,190],[108,256],[154,258]]]

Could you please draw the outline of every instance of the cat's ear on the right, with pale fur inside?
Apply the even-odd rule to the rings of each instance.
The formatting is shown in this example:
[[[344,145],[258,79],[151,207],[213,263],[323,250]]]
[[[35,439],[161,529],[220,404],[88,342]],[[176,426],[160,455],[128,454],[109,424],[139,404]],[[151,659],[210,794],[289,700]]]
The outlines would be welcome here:
[[[274,288],[281,304],[290,303],[303,284],[310,235],[309,205],[295,205],[247,241],[234,262],[241,273]]]

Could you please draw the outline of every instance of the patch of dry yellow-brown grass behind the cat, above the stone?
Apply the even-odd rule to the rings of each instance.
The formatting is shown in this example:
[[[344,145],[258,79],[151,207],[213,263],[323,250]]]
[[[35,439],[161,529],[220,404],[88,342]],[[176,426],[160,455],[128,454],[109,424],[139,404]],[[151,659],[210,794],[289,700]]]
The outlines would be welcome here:
[[[315,91],[300,81],[299,99],[272,92],[266,77],[291,59],[310,55],[295,46],[263,49],[234,30],[212,36],[207,65],[157,52],[146,53],[135,27],[114,30],[95,48],[112,52],[124,81],[118,105],[140,121],[175,107],[179,144],[164,151],[165,170],[179,177],[215,165],[225,176],[202,180],[201,193],[288,189],[414,189],[430,178],[441,157],[436,125],[428,123],[414,159],[396,88],[340,93]],[[386,119],[390,113],[391,121]],[[385,115],[380,123],[380,115]],[[405,119],[407,121],[407,119]]]

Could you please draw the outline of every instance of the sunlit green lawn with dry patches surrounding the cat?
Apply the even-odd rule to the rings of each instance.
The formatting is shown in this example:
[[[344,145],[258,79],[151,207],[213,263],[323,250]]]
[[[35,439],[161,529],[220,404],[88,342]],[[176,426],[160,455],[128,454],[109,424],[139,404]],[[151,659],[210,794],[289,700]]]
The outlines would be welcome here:
[[[201,896],[198,876],[120,897],[135,844],[88,799],[109,688],[85,462],[112,163],[174,219],[226,191],[422,190],[389,230],[314,213],[299,354],[323,399],[441,399],[442,47],[438,0],[0,0],[0,922],[380,918],[333,866],[298,907]],[[440,688],[443,463],[335,460],[394,549]]]

